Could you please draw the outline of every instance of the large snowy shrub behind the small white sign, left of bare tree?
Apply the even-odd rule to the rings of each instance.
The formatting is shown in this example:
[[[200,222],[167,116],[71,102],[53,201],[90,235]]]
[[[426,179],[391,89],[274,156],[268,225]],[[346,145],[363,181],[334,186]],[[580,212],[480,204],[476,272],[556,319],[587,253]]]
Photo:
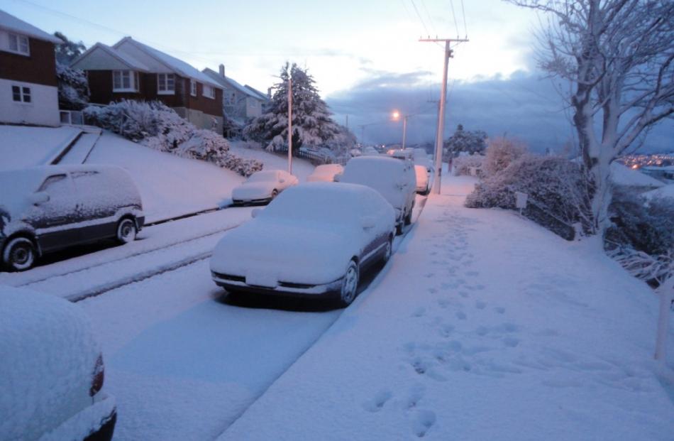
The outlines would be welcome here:
[[[524,216],[572,240],[592,224],[588,183],[582,165],[555,156],[525,155],[475,186],[466,207],[515,209],[515,192],[528,195]]]

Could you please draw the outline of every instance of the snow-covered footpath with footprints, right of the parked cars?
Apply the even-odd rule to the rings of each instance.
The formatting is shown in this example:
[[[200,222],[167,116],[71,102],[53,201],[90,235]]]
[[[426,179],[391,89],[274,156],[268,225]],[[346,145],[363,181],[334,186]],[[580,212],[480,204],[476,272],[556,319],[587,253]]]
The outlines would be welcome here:
[[[471,187],[446,180],[380,284],[219,440],[673,439],[652,291],[590,244],[466,209]]]

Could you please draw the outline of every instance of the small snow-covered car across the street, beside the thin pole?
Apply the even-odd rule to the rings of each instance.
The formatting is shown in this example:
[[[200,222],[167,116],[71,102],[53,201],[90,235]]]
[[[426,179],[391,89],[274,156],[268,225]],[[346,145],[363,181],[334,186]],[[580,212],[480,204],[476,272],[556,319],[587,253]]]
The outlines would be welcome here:
[[[245,183],[234,187],[232,202],[234,205],[270,202],[280,192],[297,183],[297,178],[284,170],[259,171],[250,175]]]

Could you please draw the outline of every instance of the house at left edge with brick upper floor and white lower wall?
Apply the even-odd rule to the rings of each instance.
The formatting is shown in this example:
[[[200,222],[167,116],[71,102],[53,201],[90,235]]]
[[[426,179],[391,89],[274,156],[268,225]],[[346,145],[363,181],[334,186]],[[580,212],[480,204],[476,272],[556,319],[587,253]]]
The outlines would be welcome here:
[[[0,122],[58,126],[54,45],[61,40],[0,11]]]

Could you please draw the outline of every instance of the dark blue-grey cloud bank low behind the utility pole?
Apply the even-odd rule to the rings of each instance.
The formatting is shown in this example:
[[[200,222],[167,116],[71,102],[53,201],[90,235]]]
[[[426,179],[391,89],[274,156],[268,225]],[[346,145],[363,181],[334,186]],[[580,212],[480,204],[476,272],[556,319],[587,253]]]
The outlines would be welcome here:
[[[371,70],[368,80],[336,92],[326,102],[341,124],[349,115],[350,129],[366,143],[399,143],[402,124],[390,121],[394,109],[410,114],[408,143],[433,141],[437,124],[439,85],[429,85],[429,72],[404,74]],[[425,83],[424,83],[425,81]],[[444,137],[458,124],[483,130],[489,136],[507,134],[529,144],[533,151],[561,151],[573,142],[571,112],[560,97],[563,85],[540,73],[517,71],[472,81],[450,81]],[[434,101],[434,102],[433,102]],[[365,126],[363,128],[363,125]],[[674,124],[667,121],[648,135],[645,150],[671,150]]]

